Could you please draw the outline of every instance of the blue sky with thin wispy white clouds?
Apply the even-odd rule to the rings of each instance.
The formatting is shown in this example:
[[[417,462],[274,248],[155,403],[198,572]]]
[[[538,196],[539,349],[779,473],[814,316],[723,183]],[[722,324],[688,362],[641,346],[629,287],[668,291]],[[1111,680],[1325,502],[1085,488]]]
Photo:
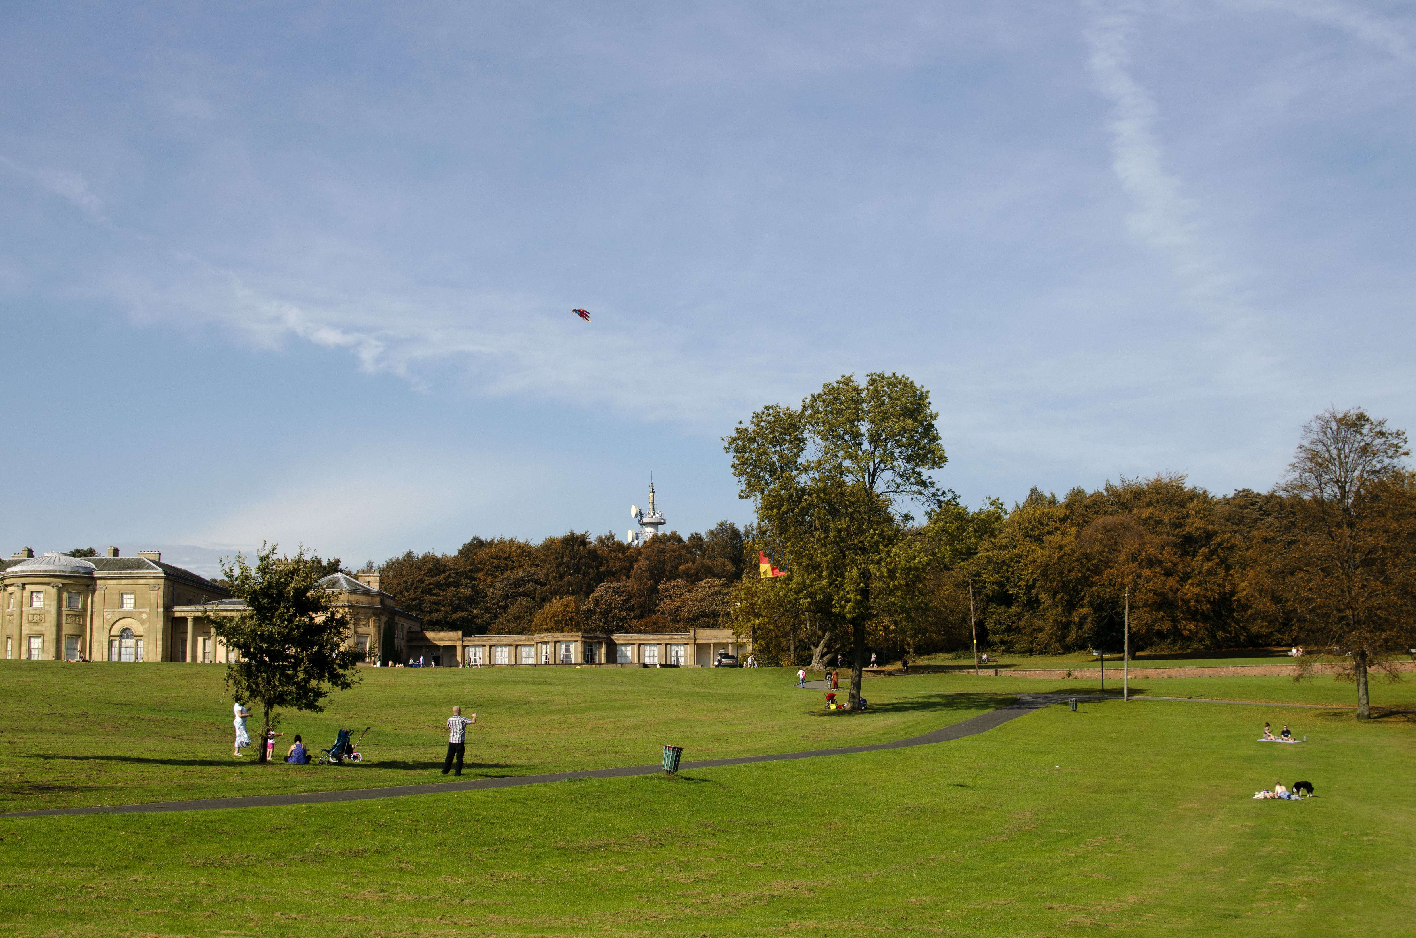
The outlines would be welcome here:
[[[358,564],[750,520],[721,436],[927,387],[967,502],[1413,425],[1399,3],[16,4],[4,553]],[[571,307],[588,307],[593,322]]]

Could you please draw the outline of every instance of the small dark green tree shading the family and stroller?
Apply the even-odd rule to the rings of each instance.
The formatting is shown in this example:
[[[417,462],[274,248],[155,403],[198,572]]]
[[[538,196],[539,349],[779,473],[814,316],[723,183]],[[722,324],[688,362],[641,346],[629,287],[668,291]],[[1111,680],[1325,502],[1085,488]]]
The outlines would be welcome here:
[[[319,557],[304,547],[293,557],[261,546],[255,565],[236,554],[221,561],[231,594],[244,608],[234,616],[211,609],[212,631],[235,652],[227,665],[227,687],[242,703],[259,704],[259,759],[265,762],[265,734],[276,708],[319,713],[336,689],[357,680],[360,653],[348,648],[350,621],[336,606],[337,594],[320,585],[327,575]]]

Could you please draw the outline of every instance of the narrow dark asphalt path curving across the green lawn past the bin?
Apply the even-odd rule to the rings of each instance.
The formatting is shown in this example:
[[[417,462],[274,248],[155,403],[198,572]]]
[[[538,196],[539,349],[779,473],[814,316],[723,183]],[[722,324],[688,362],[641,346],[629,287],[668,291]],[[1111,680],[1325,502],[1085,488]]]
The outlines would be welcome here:
[[[820,684],[821,682],[813,682]],[[933,745],[964,737],[987,733],[1010,720],[1041,710],[1052,704],[1072,700],[1068,694],[1015,694],[1017,700],[1005,707],[954,723],[923,735],[877,742],[874,745],[848,745],[837,750],[809,750],[806,752],[777,752],[775,755],[742,755],[732,759],[707,759],[681,762],[678,771],[718,768],[721,765],[748,765],[750,762],[782,762],[786,759],[813,759],[823,755],[851,755],[854,752],[878,752],[881,750],[905,750],[913,745]],[[1076,700],[1109,700],[1109,697],[1076,697]],[[433,782],[430,785],[396,785],[392,788],[360,788],[343,792],[310,792],[304,795],[252,795],[248,798],[202,798],[195,801],[163,801],[143,805],[110,805],[101,808],[50,808],[42,810],[13,810],[0,818],[54,818],[59,815],[150,815],[176,810],[225,810],[231,808],[283,808],[286,805],[333,805],[375,798],[406,798],[409,795],[446,795],[447,792],[473,792],[487,788],[515,788],[518,785],[542,785],[545,782],[572,782],[582,778],[633,778],[656,775],[664,771],[661,765],[630,765],[624,768],[585,769],[581,772],[554,772],[551,775],[517,775],[510,778],[476,778],[467,781]]]

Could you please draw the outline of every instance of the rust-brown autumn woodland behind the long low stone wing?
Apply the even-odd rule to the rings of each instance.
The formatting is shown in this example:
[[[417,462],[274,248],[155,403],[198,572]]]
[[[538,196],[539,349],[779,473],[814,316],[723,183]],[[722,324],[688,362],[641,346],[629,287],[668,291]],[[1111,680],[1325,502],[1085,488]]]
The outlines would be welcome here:
[[[668,531],[641,548],[581,531],[539,544],[474,537],[455,554],[388,558],[379,585],[429,629],[464,635],[719,628],[732,584],[756,572],[750,538],[750,526],[732,521],[687,538]]]

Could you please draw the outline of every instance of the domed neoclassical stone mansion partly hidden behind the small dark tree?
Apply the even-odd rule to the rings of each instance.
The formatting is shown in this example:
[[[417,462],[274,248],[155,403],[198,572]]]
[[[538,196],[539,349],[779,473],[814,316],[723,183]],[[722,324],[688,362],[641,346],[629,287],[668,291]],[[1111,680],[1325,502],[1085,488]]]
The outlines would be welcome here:
[[[334,574],[350,616],[351,646],[372,660],[398,660],[405,639],[422,628],[378,588],[378,574]],[[0,561],[0,642],[6,659],[93,662],[225,662],[227,648],[210,616],[244,606],[221,585],[164,564],[157,551],[119,557],[34,555],[24,548]],[[392,643],[389,646],[389,642]]]

